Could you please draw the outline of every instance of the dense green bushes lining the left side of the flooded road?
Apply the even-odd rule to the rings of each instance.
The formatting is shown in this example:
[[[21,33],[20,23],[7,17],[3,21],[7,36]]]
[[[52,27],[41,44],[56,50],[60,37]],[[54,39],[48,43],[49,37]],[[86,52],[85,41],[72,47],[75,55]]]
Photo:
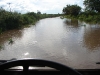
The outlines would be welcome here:
[[[59,14],[41,14],[28,12],[21,14],[17,12],[9,12],[0,8],[0,34],[6,30],[19,29],[29,24],[35,24],[38,20],[48,17],[56,17]]]

